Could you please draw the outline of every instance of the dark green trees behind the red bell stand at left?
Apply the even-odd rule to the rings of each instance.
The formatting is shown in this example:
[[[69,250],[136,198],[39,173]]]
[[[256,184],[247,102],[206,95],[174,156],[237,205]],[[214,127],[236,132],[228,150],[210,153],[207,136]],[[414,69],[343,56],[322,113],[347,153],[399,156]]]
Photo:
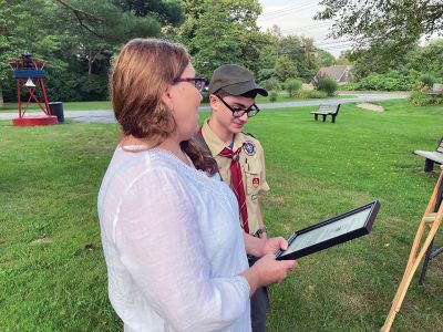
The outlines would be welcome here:
[[[47,61],[50,98],[104,98],[116,49],[182,20],[178,0],[0,0],[0,104],[17,93],[6,60],[24,51]]]

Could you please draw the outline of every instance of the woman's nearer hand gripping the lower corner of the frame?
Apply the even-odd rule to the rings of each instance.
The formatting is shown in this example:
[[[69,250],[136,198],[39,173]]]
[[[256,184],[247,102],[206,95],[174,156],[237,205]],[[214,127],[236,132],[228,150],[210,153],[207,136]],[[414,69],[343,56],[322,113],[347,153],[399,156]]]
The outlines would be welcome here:
[[[288,272],[297,267],[296,260],[276,260],[274,253],[269,253],[256,261],[248,270],[241,273],[249,282],[250,292],[270,283],[281,282],[288,276]]]

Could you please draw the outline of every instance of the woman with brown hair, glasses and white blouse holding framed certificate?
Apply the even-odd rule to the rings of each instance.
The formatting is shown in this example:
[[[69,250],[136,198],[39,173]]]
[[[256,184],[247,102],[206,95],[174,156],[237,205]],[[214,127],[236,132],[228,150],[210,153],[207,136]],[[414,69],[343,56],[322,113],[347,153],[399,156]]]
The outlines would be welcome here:
[[[243,235],[234,194],[189,141],[205,84],[182,46],[154,39],[130,41],[113,69],[123,138],[99,217],[110,300],[125,331],[250,331],[249,297],[296,266],[274,259],[282,238]],[[264,256],[250,269],[245,247]]]

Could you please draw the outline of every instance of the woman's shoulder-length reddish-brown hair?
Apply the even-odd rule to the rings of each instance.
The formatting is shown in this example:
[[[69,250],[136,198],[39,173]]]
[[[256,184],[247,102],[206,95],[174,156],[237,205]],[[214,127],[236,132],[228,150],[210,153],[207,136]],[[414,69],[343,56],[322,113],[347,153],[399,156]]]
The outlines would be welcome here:
[[[157,145],[176,129],[174,116],[162,100],[169,84],[189,64],[178,45],[157,39],[133,39],[122,49],[111,74],[111,101],[123,135],[156,139]],[[189,139],[182,149],[197,169],[214,175],[217,164]]]

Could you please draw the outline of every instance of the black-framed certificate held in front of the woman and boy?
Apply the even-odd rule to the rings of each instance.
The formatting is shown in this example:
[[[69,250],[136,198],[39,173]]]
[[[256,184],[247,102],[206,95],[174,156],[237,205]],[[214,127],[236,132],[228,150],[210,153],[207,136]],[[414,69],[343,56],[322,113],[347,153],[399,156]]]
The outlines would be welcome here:
[[[379,209],[380,203],[374,200],[340,216],[298,230],[289,237],[288,249],[276,252],[276,259],[297,259],[364,236],[371,231]]]

